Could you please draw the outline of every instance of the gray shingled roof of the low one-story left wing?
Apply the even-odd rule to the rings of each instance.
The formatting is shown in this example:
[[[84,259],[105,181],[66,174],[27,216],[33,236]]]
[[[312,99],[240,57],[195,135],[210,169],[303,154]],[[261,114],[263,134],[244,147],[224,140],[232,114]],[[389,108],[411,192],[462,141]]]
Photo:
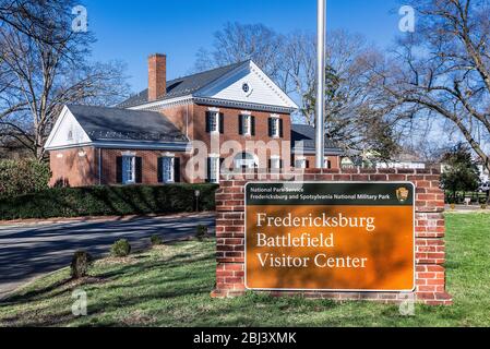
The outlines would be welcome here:
[[[188,142],[162,113],[69,105],[68,109],[93,142]]]

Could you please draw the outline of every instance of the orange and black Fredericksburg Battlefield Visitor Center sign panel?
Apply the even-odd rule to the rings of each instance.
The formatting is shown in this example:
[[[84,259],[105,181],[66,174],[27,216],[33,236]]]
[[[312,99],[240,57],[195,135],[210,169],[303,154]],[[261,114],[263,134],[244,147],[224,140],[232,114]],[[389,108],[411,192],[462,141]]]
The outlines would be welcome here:
[[[246,287],[411,292],[410,182],[246,185]]]

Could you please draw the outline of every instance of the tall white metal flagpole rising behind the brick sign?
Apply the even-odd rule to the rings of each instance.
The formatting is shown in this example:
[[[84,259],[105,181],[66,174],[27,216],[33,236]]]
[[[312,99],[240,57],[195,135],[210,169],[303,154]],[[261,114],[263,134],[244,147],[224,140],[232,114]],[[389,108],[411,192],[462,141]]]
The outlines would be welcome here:
[[[325,168],[325,35],[326,0],[318,0],[316,168]]]

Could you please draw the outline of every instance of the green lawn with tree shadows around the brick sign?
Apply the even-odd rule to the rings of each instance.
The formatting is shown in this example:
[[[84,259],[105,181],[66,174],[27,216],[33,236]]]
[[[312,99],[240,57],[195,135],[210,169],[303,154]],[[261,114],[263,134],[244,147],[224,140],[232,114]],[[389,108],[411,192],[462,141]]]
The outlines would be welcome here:
[[[418,304],[415,316],[371,302],[211,299],[214,241],[205,240],[100,260],[83,281],[71,281],[68,269],[46,276],[0,303],[0,326],[490,326],[490,215],[446,217],[454,305]],[[75,289],[87,293],[87,316],[71,313]]]

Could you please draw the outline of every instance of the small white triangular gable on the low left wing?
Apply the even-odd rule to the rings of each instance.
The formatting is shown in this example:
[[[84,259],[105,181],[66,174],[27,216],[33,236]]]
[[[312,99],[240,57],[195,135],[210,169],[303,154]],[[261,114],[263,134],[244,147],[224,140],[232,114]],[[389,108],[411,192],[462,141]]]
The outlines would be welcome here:
[[[49,134],[46,149],[84,145],[91,142],[70,109],[64,107]]]

